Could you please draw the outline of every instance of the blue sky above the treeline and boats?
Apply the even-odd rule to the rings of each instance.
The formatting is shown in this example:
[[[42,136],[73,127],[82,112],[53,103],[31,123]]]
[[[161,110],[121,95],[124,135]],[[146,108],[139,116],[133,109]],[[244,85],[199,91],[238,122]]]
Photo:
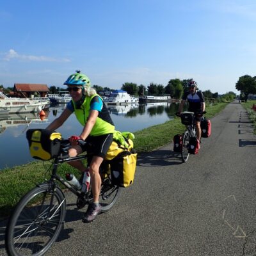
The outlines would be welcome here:
[[[236,92],[256,76],[255,0],[0,1],[0,84],[198,82]],[[65,86],[63,86],[65,88]]]

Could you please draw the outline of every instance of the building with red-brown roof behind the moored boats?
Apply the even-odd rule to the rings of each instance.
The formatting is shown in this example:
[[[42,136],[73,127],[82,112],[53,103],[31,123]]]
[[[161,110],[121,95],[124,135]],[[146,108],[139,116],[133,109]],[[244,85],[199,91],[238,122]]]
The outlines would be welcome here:
[[[49,88],[47,84],[14,84],[13,92],[15,97],[20,98],[46,97]]]

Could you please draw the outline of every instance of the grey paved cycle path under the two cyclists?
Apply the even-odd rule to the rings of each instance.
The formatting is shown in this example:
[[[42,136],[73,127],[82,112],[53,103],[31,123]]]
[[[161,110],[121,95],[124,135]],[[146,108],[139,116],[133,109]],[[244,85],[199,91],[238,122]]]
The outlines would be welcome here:
[[[187,163],[172,143],[140,155],[134,184],[93,223],[81,222],[84,210],[67,193],[65,228],[46,255],[256,255],[252,124],[237,102],[211,122]]]

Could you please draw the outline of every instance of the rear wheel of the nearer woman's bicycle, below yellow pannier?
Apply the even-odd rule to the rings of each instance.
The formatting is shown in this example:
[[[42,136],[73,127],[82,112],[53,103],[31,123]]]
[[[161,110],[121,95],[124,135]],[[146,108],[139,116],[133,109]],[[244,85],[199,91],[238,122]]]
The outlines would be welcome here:
[[[109,176],[105,175],[105,178],[102,180],[99,197],[102,212],[109,211],[113,207],[120,196],[120,192],[121,188],[113,185]]]

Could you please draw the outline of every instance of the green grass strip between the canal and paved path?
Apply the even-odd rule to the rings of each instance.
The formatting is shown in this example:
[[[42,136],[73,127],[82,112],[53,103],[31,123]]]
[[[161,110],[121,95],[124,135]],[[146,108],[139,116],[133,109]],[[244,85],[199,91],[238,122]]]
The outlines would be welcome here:
[[[227,106],[227,103],[207,106],[206,118],[211,119],[211,117],[220,113],[225,106]],[[136,148],[138,153],[150,152],[171,143],[173,136],[177,133],[181,134],[183,131],[184,125],[181,124],[180,118],[175,117],[164,124],[154,125],[134,132],[134,148]],[[49,177],[47,170],[50,169],[50,161],[33,161],[22,166],[2,170],[0,172],[0,216],[10,214],[13,206],[19,201],[20,196],[35,187],[35,184],[43,182]],[[64,177],[67,172],[72,172],[79,177],[77,170],[71,168],[68,164],[61,164],[58,173]]]

